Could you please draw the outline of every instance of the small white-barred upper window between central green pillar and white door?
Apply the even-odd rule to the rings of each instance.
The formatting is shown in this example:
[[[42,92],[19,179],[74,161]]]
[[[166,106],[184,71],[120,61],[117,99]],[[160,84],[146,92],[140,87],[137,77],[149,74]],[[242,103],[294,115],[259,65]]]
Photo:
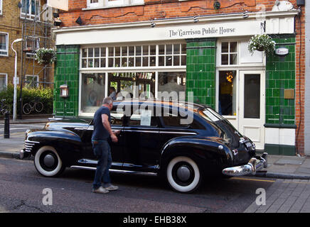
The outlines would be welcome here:
[[[237,65],[237,42],[221,44],[221,65]]]

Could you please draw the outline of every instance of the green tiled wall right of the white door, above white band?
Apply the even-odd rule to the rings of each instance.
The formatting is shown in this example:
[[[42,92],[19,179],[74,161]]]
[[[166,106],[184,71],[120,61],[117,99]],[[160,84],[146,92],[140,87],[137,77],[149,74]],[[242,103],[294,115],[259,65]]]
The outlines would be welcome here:
[[[267,56],[266,123],[292,126],[295,124],[295,99],[284,99],[284,89],[295,89],[295,38],[273,40],[276,48],[288,48],[289,54]]]

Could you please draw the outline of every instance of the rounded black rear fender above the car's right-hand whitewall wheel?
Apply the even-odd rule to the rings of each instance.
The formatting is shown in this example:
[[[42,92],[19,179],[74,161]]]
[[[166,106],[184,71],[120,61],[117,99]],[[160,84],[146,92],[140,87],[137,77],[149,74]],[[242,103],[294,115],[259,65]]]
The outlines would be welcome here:
[[[186,155],[195,159],[199,165],[205,164],[222,168],[231,166],[233,155],[224,140],[217,137],[182,136],[169,140],[161,150],[160,167],[172,157]]]

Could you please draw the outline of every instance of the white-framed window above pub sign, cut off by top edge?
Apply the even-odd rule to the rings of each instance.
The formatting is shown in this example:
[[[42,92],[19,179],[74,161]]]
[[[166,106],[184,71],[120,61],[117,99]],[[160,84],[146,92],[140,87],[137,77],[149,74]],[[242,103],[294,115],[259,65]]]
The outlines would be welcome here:
[[[144,0],[87,0],[87,8],[131,6],[137,4],[144,4]]]

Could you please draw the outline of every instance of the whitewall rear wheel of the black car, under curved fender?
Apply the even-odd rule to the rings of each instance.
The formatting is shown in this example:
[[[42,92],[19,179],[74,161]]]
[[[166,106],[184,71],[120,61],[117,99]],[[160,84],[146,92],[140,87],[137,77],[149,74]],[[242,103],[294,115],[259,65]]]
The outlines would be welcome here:
[[[201,184],[201,172],[190,157],[174,157],[166,168],[167,182],[177,192],[193,192]]]

